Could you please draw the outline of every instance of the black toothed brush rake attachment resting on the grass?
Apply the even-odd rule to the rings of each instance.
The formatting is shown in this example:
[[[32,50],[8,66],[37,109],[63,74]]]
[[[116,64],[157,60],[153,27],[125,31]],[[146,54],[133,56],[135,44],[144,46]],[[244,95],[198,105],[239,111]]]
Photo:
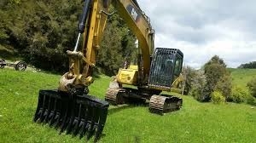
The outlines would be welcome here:
[[[106,123],[108,102],[87,94],[71,95],[57,90],[40,90],[34,122],[48,123],[60,129],[60,134],[87,134],[87,140],[95,134],[99,140]]]

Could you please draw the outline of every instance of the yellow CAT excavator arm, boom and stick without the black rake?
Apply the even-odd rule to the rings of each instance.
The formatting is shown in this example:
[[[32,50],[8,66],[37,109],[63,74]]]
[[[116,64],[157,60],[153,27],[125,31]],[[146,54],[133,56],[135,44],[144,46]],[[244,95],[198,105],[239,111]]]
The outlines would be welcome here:
[[[84,92],[93,82],[91,77],[96,65],[96,53],[100,49],[103,31],[112,3],[118,14],[138,39],[143,59],[143,77],[148,77],[150,55],[154,50],[154,30],[149,18],[139,8],[136,0],[87,0],[79,20],[79,37],[73,51],[67,51],[70,58],[69,72],[61,77],[59,89],[64,92]],[[80,35],[84,33],[83,44],[78,51]]]

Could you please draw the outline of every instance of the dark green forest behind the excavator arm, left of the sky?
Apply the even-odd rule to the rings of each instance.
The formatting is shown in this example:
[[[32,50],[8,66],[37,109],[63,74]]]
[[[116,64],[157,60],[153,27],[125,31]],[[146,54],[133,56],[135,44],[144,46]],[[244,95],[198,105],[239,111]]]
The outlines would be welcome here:
[[[1,0],[0,49],[15,51],[38,68],[66,72],[67,49],[73,50],[78,36],[81,0]],[[117,13],[108,18],[96,66],[111,76],[125,56],[135,52],[136,37]]]

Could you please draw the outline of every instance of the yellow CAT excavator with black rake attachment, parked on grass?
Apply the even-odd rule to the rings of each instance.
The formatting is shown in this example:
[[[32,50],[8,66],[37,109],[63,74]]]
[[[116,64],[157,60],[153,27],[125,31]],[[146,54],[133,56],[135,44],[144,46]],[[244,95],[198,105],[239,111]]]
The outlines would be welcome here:
[[[93,83],[96,54],[108,16],[113,14],[109,13],[111,4],[137,37],[137,65],[120,68],[105,100],[100,100],[89,95],[88,87]],[[98,140],[109,104],[125,104],[130,99],[149,100],[149,111],[160,114],[181,108],[181,98],[160,93],[172,91],[183,83],[183,53],[179,49],[154,48],[154,29],[137,0],[84,0],[78,31],[74,49],[67,50],[69,71],[61,77],[58,89],[39,90],[34,122],[48,123],[61,133],[80,137],[87,134],[88,139],[95,135]]]

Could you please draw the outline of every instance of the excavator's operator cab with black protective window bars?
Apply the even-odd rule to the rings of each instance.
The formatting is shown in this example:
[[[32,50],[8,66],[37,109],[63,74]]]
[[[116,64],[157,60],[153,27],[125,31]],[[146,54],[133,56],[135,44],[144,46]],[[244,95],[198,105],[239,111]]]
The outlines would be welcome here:
[[[182,66],[183,53],[179,49],[155,49],[149,72],[149,87],[170,90],[173,80],[182,72]]]

